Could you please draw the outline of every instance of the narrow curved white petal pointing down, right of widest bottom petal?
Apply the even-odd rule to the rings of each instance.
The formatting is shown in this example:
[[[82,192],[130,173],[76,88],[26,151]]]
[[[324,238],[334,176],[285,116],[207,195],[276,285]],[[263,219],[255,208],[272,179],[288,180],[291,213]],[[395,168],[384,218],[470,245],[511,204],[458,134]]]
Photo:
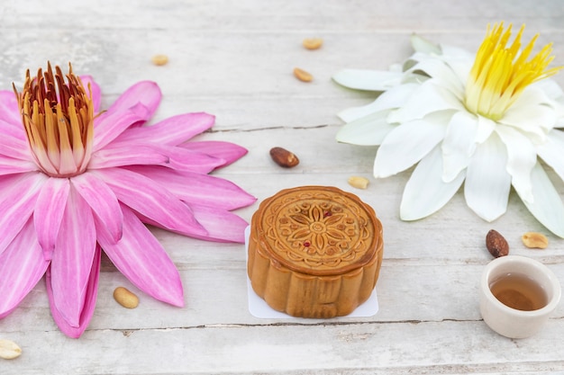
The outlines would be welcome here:
[[[496,132],[507,147],[507,172],[511,174],[515,191],[523,201],[532,203],[531,171],[537,163],[537,152],[531,140],[502,124],[497,124]]]

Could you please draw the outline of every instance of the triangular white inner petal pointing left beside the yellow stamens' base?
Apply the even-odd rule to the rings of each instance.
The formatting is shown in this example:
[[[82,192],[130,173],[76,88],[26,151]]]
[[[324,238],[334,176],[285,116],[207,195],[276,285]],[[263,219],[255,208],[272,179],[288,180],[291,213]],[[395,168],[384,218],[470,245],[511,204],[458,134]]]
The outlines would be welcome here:
[[[447,88],[429,79],[417,88],[405,105],[391,112],[389,122],[407,122],[423,119],[427,114],[444,110],[466,111],[462,103]]]

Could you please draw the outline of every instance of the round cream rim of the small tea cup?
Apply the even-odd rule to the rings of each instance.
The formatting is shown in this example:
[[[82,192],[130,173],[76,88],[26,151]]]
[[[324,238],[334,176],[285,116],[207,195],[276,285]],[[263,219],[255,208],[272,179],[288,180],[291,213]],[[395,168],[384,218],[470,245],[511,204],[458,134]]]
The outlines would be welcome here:
[[[530,311],[519,310],[516,308],[510,308],[499,299],[496,299],[496,296],[494,296],[494,293],[492,293],[492,291],[489,288],[489,275],[499,264],[507,263],[507,262],[526,263],[528,265],[531,265],[532,267],[541,270],[542,273],[546,275],[546,277],[550,281],[550,284],[552,285],[552,293],[551,295],[547,296],[549,302],[544,307]],[[545,264],[523,255],[500,256],[494,259],[493,261],[491,261],[490,263],[487,263],[486,268],[482,272],[480,288],[483,294],[485,295],[485,297],[489,299],[492,303],[494,303],[498,308],[501,308],[507,313],[517,315],[520,317],[536,317],[544,314],[549,314],[558,306],[561,297],[560,283],[554,272],[552,272],[550,268],[547,267]]]

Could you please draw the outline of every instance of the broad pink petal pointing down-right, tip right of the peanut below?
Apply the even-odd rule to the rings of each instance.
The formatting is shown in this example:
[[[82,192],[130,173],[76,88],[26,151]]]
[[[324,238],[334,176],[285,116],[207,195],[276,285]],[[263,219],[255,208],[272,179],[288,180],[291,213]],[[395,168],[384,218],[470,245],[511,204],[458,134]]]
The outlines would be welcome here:
[[[132,283],[149,294],[177,307],[184,306],[182,281],[177,268],[159,241],[132,211],[123,206],[123,237],[118,243],[100,234],[100,246]]]

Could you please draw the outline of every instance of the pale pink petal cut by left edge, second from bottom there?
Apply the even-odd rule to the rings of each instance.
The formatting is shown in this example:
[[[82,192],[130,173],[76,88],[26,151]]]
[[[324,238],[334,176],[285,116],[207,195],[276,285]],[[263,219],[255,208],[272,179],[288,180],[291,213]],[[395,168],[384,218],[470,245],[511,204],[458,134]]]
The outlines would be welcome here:
[[[0,254],[32,216],[41,186],[48,178],[41,173],[0,178]]]

